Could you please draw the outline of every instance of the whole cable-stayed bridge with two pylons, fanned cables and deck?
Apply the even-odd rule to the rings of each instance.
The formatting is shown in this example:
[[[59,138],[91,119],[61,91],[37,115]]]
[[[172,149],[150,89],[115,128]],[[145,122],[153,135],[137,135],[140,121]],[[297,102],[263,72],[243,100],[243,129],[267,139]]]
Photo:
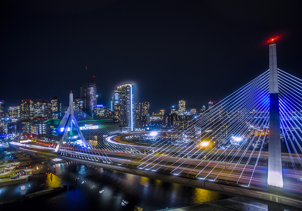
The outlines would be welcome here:
[[[272,44],[268,71],[153,144],[122,141],[74,108],[72,93],[48,147],[14,144],[34,154],[295,209],[302,205],[301,89],[301,79],[277,68]]]

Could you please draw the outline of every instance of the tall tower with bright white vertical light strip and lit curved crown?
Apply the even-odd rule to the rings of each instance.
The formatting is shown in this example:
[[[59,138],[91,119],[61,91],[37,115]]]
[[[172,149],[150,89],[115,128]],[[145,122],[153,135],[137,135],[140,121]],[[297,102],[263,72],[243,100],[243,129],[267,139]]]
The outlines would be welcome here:
[[[133,110],[134,110],[134,83],[126,83],[117,86],[117,90],[125,93],[125,125],[133,130]]]

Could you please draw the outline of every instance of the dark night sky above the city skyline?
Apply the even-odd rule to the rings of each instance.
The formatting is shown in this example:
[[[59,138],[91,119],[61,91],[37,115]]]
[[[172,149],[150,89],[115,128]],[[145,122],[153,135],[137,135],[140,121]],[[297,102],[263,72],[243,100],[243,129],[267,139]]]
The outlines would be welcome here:
[[[2,1],[1,94],[22,99],[80,95],[95,76],[99,104],[121,83],[136,102],[170,109],[179,99],[201,109],[268,70],[302,78],[301,1]]]

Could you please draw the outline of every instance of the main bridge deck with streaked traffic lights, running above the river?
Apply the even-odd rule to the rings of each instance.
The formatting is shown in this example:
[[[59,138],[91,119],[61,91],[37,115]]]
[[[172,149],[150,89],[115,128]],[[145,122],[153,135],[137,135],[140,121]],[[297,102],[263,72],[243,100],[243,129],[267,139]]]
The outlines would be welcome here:
[[[237,164],[236,167],[236,164],[228,164],[227,169],[225,170],[223,163],[216,162],[214,164],[209,164],[209,161],[206,161],[203,164],[197,165],[199,161],[195,159],[182,158],[179,159],[178,162],[180,163],[180,161],[185,161],[185,163],[180,165],[176,169],[176,167],[178,166],[177,158],[161,157],[162,160],[158,162],[161,167],[156,167],[157,169],[155,170],[152,169],[152,167],[155,167],[154,165],[149,165],[150,167],[147,165],[150,163],[150,161],[155,160],[159,156],[155,156],[152,159],[150,159],[151,156],[146,156],[143,158],[143,160],[141,160],[142,155],[132,153],[121,153],[104,150],[98,152],[103,154],[106,153],[106,155],[108,156],[107,157],[96,155],[95,151],[90,152],[95,155],[90,155],[85,154],[83,151],[74,154],[74,151],[61,150],[61,153],[63,154],[70,154],[72,156],[75,156],[71,157],[62,154],[56,154],[53,151],[53,148],[43,148],[31,144],[26,144],[25,146],[25,144],[20,143],[18,143],[18,145],[12,146],[27,151],[34,156],[44,156],[49,158],[56,157],[67,161],[74,161],[77,163],[115,170],[127,174],[134,174],[166,182],[178,183],[181,185],[202,188],[233,196],[247,197],[249,199],[266,203],[268,205],[278,205],[282,209],[300,210],[300,207],[302,207],[301,182],[294,177],[294,172],[288,169],[283,169],[284,191],[281,193],[274,193],[267,190],[267,168],[263,166],[256,166],[250,187],[246,187],[243,184],[248,184],[252,169],[255,167],[254,165],[246,165],[246,168],[243,171],[241,178],[239,179],[239,175],[242,173],[242,170],[245,166],[244,164]],[[95,161],[93,158],[99,160],[103,159],[106,162]],[[150,160],[147,161],[148,159]],[[140,169],[139,165],[143,162],[145,162],[145,164],[141,165],[140,167],[143,166],[145,168]],[[213,165],[215,165],[214,170]],[[202,170],[203,168],[204,170]],[[178,172],[176,172],[175,169]],[[172,170],[174,170],[174,172],[171,174],[170,172]],[[202,172],[198,175],[201,170]],[[233,172],[231,176],[228,178],[227,182],[225,182],[228,174],[232,170]],[[179,174],[180,171],[182,172]],[[196,175],[198,175],[198,177],[195,177]],[[206,175],[208,175],[206,179],[198,179],[205,177]],[[215,181],[213,181],[215,177],[217,178]],[[239,182],[236,184],[236,181],[238,181],[238,179]]]

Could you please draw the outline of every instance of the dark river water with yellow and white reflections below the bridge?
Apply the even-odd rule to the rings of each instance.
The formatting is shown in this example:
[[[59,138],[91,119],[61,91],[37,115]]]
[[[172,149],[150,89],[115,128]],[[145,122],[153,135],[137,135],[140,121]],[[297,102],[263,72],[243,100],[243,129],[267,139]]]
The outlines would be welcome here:
[[[37,164],[36,164],[37,165]],[[176,206],[199,204],[208,200],[225,198],[226,195],[203,189],[124,174],[74,162],[53,165],[51,162],[38,164],[54,173],[46,180],[29,180],[0,187],[0,200],[23,196],[28,193],[63,185],[76,185],[76,190],[49,193],[43,196],[14,203],[14,209],[30,206],[54,210],[102,211],[135,210],[136,206],[148,210],[158,210]],[[76,178],[78,182],[76,184]],[[100,193],[101,191],[101,193]],[[7,204],[3,207],[11,207]]]

